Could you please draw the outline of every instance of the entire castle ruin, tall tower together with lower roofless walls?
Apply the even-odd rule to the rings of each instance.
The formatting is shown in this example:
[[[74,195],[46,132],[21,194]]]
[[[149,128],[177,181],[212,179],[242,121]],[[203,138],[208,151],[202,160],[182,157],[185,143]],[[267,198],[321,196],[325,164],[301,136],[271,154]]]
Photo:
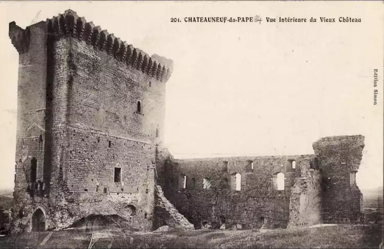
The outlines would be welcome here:
[[[92,215],[140,231],[360,221],[361,135],[321,139],[313,155],[174,160],[162,144],[172,60],[72,10],[25,29],[11,22],[9,37],[19,53],[14,231]]]

